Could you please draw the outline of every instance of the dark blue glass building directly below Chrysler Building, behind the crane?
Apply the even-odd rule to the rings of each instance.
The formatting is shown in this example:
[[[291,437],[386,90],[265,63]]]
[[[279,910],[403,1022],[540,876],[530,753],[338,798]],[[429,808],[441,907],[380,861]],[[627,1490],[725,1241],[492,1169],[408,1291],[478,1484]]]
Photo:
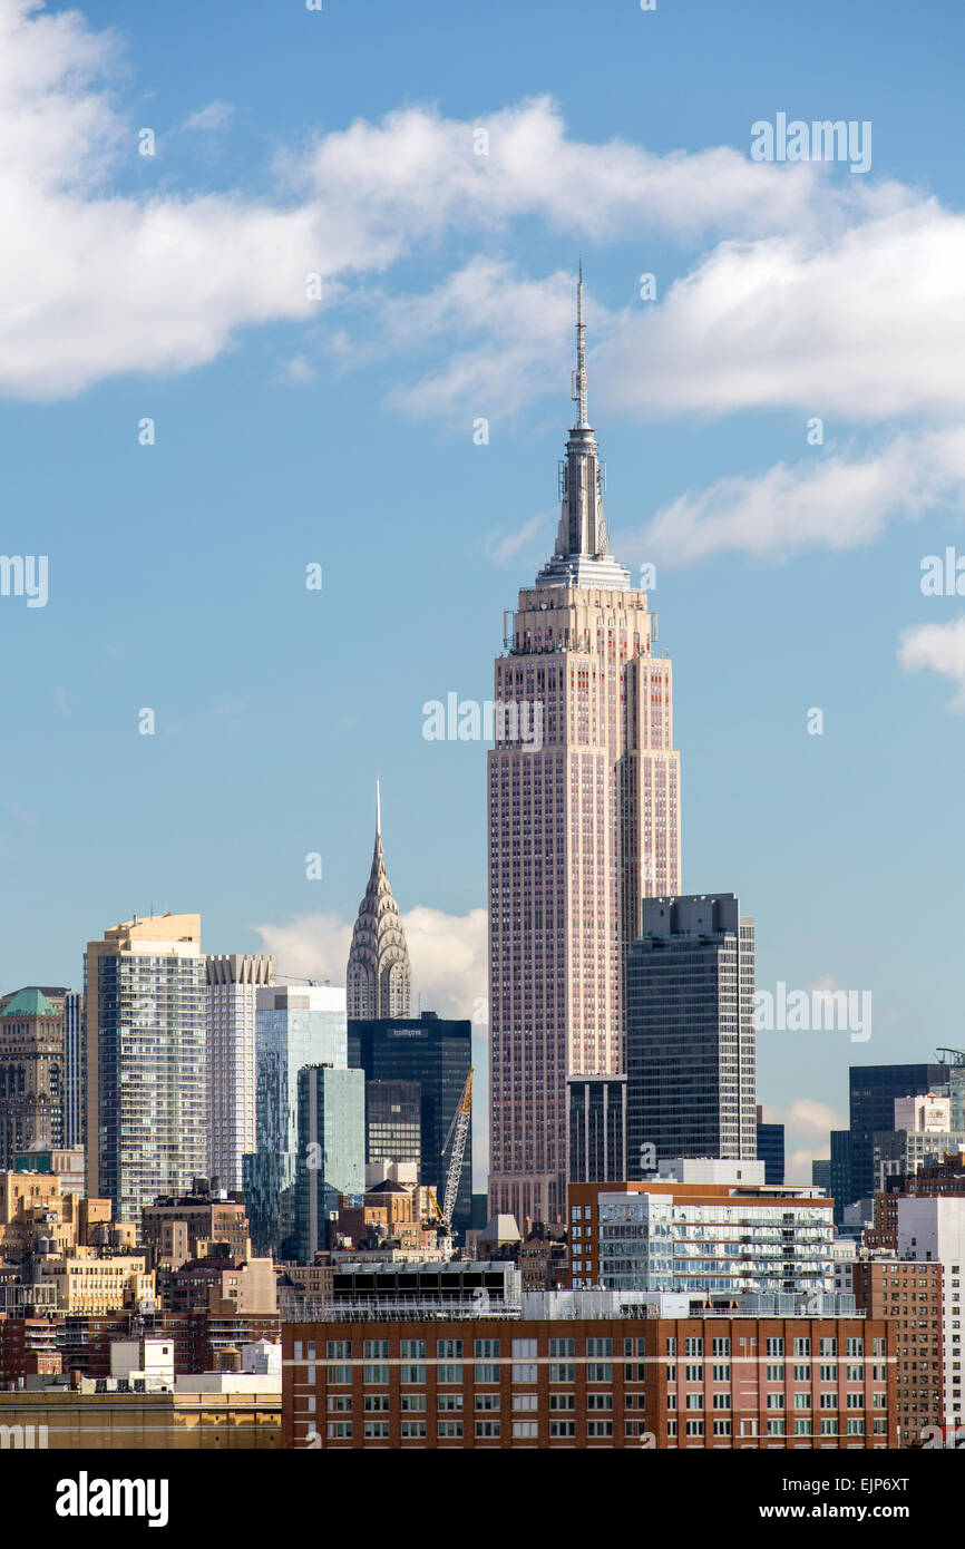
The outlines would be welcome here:
[[[384,1016],[349,1021],[349,1064],[370,1081],[415,1081],[420,1087],[420,1146],[423,1183],[435,1188],[441,1205],[446,1160],[441,1149],[458,1108],[472,1063],[472,1024],[449,1021],[435,1011],[421,1016]],[[466,1146],[452,1225],[472,1224],[472,1146]]]

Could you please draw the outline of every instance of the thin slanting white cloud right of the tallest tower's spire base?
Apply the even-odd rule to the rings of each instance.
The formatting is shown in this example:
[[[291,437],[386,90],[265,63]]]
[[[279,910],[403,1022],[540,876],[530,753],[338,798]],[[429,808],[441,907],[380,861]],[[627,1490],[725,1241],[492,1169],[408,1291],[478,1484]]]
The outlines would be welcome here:
[[[616,534],[629,559],[686,564],[714,553],[787,558],[807,548],[858,548],[892,520],[965,496],[965,431],[898,435],[878,451],[813,448],[788,466],[686,489],[638,533]]]

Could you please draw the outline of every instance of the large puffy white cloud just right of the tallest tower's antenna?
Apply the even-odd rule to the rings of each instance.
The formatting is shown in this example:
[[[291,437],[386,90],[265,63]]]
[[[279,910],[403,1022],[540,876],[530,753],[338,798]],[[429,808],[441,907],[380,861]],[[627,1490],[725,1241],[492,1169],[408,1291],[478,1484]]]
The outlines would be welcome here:
[[[796,407],[877,421],[965,407],[965,218],[908,198],[819,234],[722,242],[601,350],[641,418]]]

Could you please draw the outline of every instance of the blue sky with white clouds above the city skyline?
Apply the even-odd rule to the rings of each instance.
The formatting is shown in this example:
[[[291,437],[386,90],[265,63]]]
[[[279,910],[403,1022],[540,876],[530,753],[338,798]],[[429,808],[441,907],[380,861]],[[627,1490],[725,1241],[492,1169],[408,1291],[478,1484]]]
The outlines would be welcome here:
[[[965,553],[962,14],[0,0],[0,550],[50,561],[46,607],[0,596],[0,987],[79,982],[152,905],[339,979],[378,771],[423,1004],[472,1013],[485,748],[421,706],[491,694],[551,548],[582,252],[685,888],[739,892],[761,987],[874,998],[867,1042],[759,1038],[804,1176],[852,1060],[963,1041],[962,607],[920,589]],[[753,163],[779,112],[869,121],[871,172]]]

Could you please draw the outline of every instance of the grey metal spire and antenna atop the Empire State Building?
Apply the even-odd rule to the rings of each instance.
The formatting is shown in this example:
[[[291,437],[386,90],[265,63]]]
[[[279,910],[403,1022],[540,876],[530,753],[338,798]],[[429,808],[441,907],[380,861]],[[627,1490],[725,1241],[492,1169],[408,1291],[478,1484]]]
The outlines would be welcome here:
[[[572,398],[576,424],[570,426],[567,455],[559,465],[562,502],[553,558],[536,578],[536,586],[604,586],[626,590],[630,573],[610,555],[610,539],[603,514],[606,463],[593,426],[587,418],[587,330],[582,321],[582,259],[576,280],[576,370]]]

